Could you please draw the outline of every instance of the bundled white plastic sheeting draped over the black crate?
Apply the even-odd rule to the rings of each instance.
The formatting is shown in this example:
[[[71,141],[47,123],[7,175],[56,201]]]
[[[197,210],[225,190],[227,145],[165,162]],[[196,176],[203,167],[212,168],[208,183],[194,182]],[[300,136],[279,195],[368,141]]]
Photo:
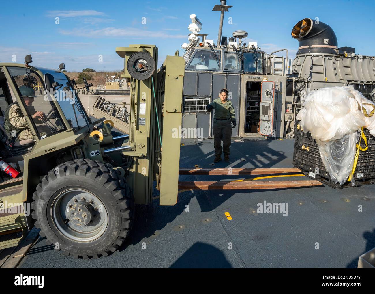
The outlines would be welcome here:
[[[353,169],[362,127],[375,135],[375,104],[353,86],[338,86],[311,91],[303,106],[296,119],[317,141],[333,181],[344,184]]]

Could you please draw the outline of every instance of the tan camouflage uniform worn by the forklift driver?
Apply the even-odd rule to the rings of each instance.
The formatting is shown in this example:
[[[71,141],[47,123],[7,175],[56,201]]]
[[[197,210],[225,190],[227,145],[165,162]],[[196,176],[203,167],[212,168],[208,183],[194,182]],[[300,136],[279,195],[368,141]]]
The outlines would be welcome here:
[[[5,110],[4,128],[9,140],[16,134],[16,141],[34,139],[17,102],[10,104]],[[45,132],[40,132],[40,136],[44,136],[45,134]]]

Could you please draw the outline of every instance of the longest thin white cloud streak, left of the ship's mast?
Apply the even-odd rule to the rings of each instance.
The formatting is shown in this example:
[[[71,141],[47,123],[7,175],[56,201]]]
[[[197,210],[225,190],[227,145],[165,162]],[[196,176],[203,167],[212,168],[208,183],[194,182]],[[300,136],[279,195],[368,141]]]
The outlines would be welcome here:
[[[79,37],[133,37],[135,39],[144,39],[145,36],[148,38],[184,38],[186,35],[170,35],[165,32],[152,32],[147,30],[141,30],[136,28],[119,29],[115,27],[106,27],[104,29],[90,30],[90,29],[73,29],[73,30],[60,30],[63,35],[73,35]]]

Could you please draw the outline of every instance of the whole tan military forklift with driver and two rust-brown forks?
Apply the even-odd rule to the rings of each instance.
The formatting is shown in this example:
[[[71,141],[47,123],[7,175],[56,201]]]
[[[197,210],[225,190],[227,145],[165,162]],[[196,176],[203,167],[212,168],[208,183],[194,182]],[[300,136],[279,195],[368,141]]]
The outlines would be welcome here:
[[[78,88],[62,70],[0,63],[0,250],[17,246],[35,226],[55,249],[74,258],[115,252],[129,236],[135,204],[147,205],[153,187],[160,205],[175,205],[180,189],[275,189],[310,187],[317,181],[178,182],[179,174],[264,174],[299,169],[200,169],[179,167],[184,59],[167,56],[157,66],[155,45],[117,47],[130,81],[127,134],[116,118],[89,116]],[[43,93],[34,88],[42,85]],[[30,97],[32,99],[30,99]],[[32,101],[31,101],[32,100]],[[30,102],[31,101],[31,102]],[[7,133],[17,104],[31,138]],[[35,113],[42,113],[35,117]],[[12,118],[13,119],[13,118]],[[8,124],[9,125],[9,124]],[[24,131],[23,130],[23,131]],[[121,130],[120,130],[121,131]],[[12,234],[20,231],[22,235]]]

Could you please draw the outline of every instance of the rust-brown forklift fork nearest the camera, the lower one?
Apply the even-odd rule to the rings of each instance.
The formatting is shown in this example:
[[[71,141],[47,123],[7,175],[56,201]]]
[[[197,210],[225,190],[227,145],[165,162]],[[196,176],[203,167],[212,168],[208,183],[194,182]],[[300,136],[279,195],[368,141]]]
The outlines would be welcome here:
[[[186,190],[260,190],[313,187],[322,185],[319,181],[243,181],[243,182],[178,182],[178,189]]]

